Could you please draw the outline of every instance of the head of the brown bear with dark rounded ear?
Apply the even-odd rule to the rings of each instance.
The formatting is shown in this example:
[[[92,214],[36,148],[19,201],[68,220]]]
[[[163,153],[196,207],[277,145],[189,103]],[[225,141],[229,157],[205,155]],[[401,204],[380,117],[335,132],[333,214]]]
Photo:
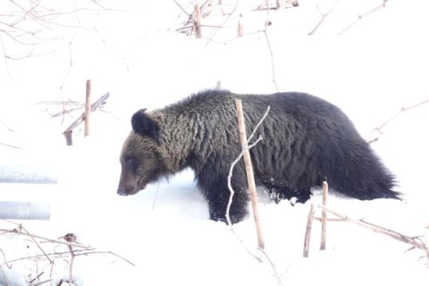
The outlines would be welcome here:
[[[122,196],[134,195],[168,173],[167,156],[159,143],[158,123],[145,111],[139,110],[131,117],[132,130],[123,143],[118,186],[118,194]]]

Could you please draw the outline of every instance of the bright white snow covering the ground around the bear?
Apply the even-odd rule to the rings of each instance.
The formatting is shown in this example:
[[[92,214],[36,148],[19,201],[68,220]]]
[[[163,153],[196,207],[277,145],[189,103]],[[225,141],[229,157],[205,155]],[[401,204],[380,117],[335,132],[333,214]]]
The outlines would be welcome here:
[[[389,1],[339,36],[359,14],[382,1],[336,2],[301,0],[297,8],[269,13],[276,82],[281,90],[305,91],[340,106],[362,136],[370,138],[375,127],[402,107],[428,98],[425,35],[429,18],[425,12],[429,4]],[[266,12],[249,12],[240,6],[246,37],[235,38],[231,20],[225,23],[228,29],[209,42],[175,32],[183,15],[178,17],[181,10],[173,2],[103,4],[122,10],[80,13],[80,25],[98,32],[63,29],[59,33],[71,35],[71,45],[68,38],[38,46],[40,53],[53,48],[55,53],[8,61],[0,67],[0,143],[22,148],[0,145],[1,178],[57,181],[0,183],[1,201],[49,203],[49,220],[13,222],[53,240],[75,233],[79,242],[112,251],[134,264],[110,253],[76,257],[73,273],[80,285],[277,285],[266,258],[258,262],[224,223],[208,220],[206,201],[190,170],[147,186],[133,197],[115,193],[122,141],[130,131],[130,115],[137,109],[162,107],[219,82],[235,92],[276,90],[265,35],[255,33],[264,29]],[[333,4],[332,12],[309,37],[321,17],[315,7],[327,13]],[[218,24],[223,18],[214,13],[210,21]],[[5,52],[11,53],[16,43],[2,41]],[[111,93],[105,105],[108,113],[97,111],[91,117],[91,135],[83,139],[83,131],[75,130],[74,146],[65,147],[62,132],[75,117],[65,116],[63,122],[51,119],[46,105],[35,103],[83,101],[88,79],[94,100]],[[372,143],[396,174],[404,201],[357,201],[330,195],[330,208],[425,240],[428,114],[429,104],[404,111]],[[321,251],[320,223],[315,222],[309,257],[302,257],[310,204],[318,206],[321,201],[316,189],[304,205],[261,203],[265,252],[283,285],[427,284],[424,251],[352,223],[328,223],[327,248]],[[0,221],[2,230],[16,227]],[[261,256],[252,219],[234,229],[243,244]],[[55,243],[40,246],[46,252],[68,250]],[[4,264],[40,255],[28,237],[0,232],[0,250],[0,284],[28,285],[38,273],[43,274],[31,285],[51,278],[44,284],[56,285],[68,279],[68,256],[55,259],[52,274],[51,265],[42,258]]]

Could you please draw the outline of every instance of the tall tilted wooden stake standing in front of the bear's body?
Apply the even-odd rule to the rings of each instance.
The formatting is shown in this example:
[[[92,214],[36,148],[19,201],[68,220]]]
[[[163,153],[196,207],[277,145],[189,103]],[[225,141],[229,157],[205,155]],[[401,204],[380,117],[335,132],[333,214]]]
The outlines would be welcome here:
[[[241,100],[236,100],[235,106],[237,108],[237,119],[238,119],[239,130],[240,130],[241,148],[245,150],[243,157],[244,157],[244,164],[246,166],[246,175],[248,177],[248,192],[250,195],[250,201],[252,203],[253,218],[255,220],[255,225],[257,227],[257,246],[261,249],[264,249],[265,242],[264,242],[264,236],[262,233],[259,211],[257,207],[257,186],[255,184],[255,177],[253,174],[252,160],[250,159],[250,153],[248,152],[248,138],[246,135],[246,126],[244,123]]]

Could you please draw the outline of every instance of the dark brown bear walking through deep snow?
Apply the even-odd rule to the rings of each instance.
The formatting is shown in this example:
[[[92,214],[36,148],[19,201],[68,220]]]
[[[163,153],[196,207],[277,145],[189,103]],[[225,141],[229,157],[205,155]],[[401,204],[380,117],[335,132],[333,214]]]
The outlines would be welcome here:
[[[351,198],[400,198],[392,190],[391,172],[335,105],[298,92],[238,95],[225,90],[203,91],[163,109],[134,114],[122,147],[118,194],[136,194],[148,183],[190,167],[210,218],[224,221],[228,172],[241,151],[235,99],[242,101],[248,132],[271,106],[257,130],[263,140],[250,156],[257,185],[265,186],[275,201],[305,202],[310,188],[324,180]],[[248,214],[244,164],[235,166],[231,185],[230,217],[238,223]]]

